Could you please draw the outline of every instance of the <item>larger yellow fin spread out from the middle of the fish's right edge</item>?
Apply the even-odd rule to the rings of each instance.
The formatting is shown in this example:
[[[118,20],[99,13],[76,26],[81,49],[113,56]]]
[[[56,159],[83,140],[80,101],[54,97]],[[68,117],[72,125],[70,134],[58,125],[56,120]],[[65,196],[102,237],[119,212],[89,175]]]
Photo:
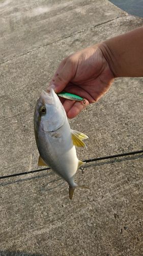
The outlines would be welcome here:
[[[71,130],[71,132],[74,146],[86,147],[85,143],[82,140],[88,139],[88,136],[75,130]]]

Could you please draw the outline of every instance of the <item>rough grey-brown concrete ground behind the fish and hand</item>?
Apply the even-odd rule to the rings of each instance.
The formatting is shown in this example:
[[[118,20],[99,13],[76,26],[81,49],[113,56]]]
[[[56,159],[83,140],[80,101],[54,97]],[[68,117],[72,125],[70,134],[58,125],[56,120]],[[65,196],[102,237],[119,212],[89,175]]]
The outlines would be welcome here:
[[[70,53],[143,25],[106,0],[0,0],[1,176],[36,169],[36,99]],[[70,120],[88,159],[142,149],[143,78],[120,78]],[[51,171],[0,180],[0,255],[143,255],[142,155],[104,160],[68,186]]]

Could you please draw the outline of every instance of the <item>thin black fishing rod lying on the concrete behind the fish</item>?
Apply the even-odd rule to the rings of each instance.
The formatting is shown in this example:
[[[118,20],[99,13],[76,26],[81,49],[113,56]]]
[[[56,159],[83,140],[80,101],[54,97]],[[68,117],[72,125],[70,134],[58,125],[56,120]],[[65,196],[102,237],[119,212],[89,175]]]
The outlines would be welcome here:
[[[112,156],[97,157],[97,158],[93,158],[93,159],[83,160],[83,162],[89,163],[89,162],[100,161],[100,160],[104,160],[104,159],[124,157],[124,156],[130,156],[130,155],[141,154],[141,153],[143,153],[143,150],[132,151],[132,152],[122,153],[122,154],[117,154],[117,155],[112,155]],[[0,176],[0,179],[6,179],[6,178],[11,178],[11,177],[20,176],[20,175],[26,175],[26,174],[32,174],[32,173],[38,173],[38,172],[42,172],[43,170],[49,170],[49,169],[50,168],[43,168],[43,169],[37,169],[37,170],[30,170],[30,171],[24,172],[24,173]]]

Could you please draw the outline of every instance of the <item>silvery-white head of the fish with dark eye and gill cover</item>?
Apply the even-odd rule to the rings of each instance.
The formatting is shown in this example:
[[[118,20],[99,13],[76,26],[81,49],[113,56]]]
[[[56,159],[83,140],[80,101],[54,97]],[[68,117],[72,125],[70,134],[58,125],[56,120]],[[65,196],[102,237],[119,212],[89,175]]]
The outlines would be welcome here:
[[[54,132],[63,126],[65,119],[65,109],[54,90],[51,89],[49,93],[42,91],[35,106],[35,132],[37,127],[43,132]]]

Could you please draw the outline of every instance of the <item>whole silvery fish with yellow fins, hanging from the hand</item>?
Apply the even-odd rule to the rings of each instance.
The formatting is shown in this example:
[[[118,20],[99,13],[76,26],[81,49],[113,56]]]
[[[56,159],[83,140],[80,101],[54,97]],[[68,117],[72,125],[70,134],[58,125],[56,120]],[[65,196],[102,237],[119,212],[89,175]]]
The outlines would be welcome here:
[[[39,151],[38,166],[48,166],[69,184],[69,198],[74,189],[89,188],[74,181],[77,169],[84,164],[78,160],[76,148],[86,147],[88,136],[72,130],[58,95],[53,89],[41,93],[34,112],[34,132]]]

